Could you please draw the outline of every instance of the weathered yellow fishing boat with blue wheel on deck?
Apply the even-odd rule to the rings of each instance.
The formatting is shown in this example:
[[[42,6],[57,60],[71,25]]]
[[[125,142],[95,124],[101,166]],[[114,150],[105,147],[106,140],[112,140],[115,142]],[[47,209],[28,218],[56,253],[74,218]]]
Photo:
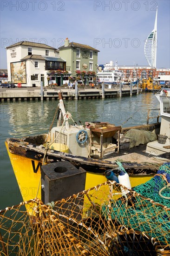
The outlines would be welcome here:
[[[161,97],[170,99],[170,91],[162,92]],[[163,99],[161,108],[165,108],[167,104]],[[166,105],[166,112],[168,111]],[[144,132],[149,133],[149,141],[156,141],[156,134],[159,134],[160,130],[159,122],[131,128],[94,121],[78,125],[72,115],[65,112],[61,92],[55,115],[57,113],[58,126],[52,128],[51,125],[48,134],[20,139],[8,138],[5,142],[24,201],[36,198],[37,195],[41,198],[41,166],[44,164],[67,161],[77,169],[83,168],[86,171],[85,189],[89,189],[106,181],[107,170],[115,169],[115,175],[118,175],[117,162],[122,163],[130,176],[131,187],[150,180],[158,167],[167,162],[170,149],[162,146],[158,154],[155,154],[157,150],[154,151],[155,155],[152,154],[153,149],[149,153],[146,151]],[[161,125],[163,122],[162,126],[168,127],[163,133],[169,138],[170,112],[166,115],[166,122],[162,118]],[[138,140],[141,138],[144,140]],[[166,143],[169,143],[169,139]]]

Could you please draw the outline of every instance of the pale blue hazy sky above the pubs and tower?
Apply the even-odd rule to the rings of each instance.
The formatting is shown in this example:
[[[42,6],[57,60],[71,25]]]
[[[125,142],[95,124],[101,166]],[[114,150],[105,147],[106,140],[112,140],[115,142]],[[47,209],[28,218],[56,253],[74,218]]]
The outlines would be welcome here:
[[[144,41],[157,6],[157,68],[170,68],[169,0],[1,0],[0,68],[7,46],[27,40],[58,48],[67,37],[98,49],[98,64],[147,66]]]

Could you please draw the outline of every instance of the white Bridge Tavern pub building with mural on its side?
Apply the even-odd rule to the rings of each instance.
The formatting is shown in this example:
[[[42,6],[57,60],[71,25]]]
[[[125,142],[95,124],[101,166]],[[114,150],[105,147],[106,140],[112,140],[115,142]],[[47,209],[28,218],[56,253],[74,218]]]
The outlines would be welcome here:
[[[48,84],[62,85],[68,80],[66,61],[59,50],[46,44],[21,41],[7,49],[8,81],[22,87],[40,87]]]

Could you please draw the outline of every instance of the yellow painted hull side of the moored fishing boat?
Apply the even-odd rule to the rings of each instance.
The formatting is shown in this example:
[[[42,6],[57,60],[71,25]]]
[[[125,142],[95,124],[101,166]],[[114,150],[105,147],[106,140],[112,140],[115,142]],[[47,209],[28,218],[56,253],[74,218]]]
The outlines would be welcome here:
[[[7,147],[7,142],[6,142]],[[41,172],[40,167],[42,162],[32,160],[28,157],[15,155],[9,152],[8,155],[13,166],[13,171],[16,176],[23,201],[29,201],[34,198],[41,199]],[[149,181],[153,175],[130,175],[131,187],[135,187]],[[104,174],[101,173],[86,173],[85,189],[90,189],[98,184],[106,182]]]

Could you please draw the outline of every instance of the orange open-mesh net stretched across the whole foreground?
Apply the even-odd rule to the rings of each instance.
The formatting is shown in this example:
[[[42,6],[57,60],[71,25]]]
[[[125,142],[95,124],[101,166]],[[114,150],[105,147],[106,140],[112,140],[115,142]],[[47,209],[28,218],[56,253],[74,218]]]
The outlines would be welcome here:
[[[124,191],[108,181],[48,205],[37,199],[1,210],[0,255],[169,255],[170,209]]]

